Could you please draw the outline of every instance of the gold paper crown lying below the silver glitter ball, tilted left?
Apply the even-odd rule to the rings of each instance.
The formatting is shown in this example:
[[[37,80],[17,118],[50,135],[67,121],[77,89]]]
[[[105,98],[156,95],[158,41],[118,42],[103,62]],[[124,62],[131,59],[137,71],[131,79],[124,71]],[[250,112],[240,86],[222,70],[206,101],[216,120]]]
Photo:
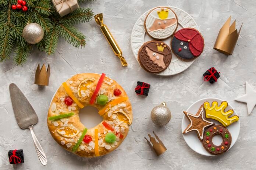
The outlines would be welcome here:
[[[153,133],[154,133],[154,131],[153,131]],[[150,134],[148,134],[148,135],[149,135],[149,140],[150,141],[147,140],[146,137],[144,137],[144,138],[147,140],[147,144],[149,144],[152,151],[155,151],[157,156],[163,154],[167,149],[164,146],[164,144],[162,143],[162,141],[159,139],[159,137],[154,133],[156,139],[158,140],[158,142],[157,142],[154,137],[151,137]],[[151,145],[150,142],[153,144],[153,146]]]

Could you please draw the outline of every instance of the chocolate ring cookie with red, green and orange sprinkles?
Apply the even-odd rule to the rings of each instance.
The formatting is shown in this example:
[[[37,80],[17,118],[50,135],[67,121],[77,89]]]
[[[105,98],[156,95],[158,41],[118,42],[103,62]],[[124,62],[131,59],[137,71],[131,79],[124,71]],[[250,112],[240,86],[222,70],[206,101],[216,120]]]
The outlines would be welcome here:
[[[212,141],[216,134],[220,135],[223,139],[222,143],[218,146],[214,145]],[[223,154],[230,148],[231,141],[232,137],[228,129],[221,125],[214,125],[205,130],[202,143],[208,152],[214,155],[219,155]]]

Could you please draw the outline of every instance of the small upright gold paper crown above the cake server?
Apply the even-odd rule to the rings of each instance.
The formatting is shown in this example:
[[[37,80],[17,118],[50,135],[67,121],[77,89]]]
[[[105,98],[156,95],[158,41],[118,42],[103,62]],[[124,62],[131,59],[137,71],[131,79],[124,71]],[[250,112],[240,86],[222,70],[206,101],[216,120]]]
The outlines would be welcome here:
[[[50,65],[48,64],[48,68],[46,71],[45,63],[43,63],[43,66],[40,70],[40,63],[39,63],[36,69],[35,84],[48,86],[49,78],[50,78]]]

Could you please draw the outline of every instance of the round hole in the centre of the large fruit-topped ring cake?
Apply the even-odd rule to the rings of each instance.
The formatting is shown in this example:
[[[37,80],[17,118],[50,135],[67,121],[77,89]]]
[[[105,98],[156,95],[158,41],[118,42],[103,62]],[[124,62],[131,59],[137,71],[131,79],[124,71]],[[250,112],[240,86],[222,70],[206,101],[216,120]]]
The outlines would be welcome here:
[[[86,106],[79,111],[80,121],[86,128],[92,128],[103,121],[96,107]]]

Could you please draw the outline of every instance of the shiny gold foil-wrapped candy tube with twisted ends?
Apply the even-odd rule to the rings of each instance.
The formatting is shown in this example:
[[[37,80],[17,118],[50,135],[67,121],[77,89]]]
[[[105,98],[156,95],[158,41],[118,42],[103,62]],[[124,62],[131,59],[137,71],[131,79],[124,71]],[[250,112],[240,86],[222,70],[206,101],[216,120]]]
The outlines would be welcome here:
[[[97,24],[100,25],[100,29],[102,30],[102,33],[106,37],[107,41],[109,42],[111,48],[113,49],[116,56],[118,56],[121,60],[122,66],[127,66],[127,62],[125,61],[124,57],[122,56],[122,51],[120,47],[118,46],[117,42],[115,41],[114,37],[110,33],[108,27],[103,23],[103,14],[97,14],[94,16],[95,21]]]

